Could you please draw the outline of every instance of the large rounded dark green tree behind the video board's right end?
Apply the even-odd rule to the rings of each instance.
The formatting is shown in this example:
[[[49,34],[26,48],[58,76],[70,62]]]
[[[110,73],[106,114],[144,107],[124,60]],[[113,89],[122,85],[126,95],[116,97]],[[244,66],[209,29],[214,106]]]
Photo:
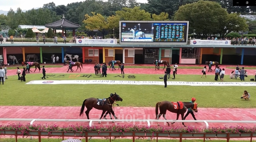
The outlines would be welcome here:
[[[227,11],[217,2],[203,1],[182,5],[174,15],[175,21],[189,21],[189,32],[199,35],[218,34],[227,26]]]

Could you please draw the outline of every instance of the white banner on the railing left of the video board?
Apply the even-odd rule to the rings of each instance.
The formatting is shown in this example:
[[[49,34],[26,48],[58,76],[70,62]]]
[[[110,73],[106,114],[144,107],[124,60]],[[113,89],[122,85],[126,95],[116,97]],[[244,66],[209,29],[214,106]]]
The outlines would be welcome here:
[[[76,39],[76,44],[117,44],[117,39]]]

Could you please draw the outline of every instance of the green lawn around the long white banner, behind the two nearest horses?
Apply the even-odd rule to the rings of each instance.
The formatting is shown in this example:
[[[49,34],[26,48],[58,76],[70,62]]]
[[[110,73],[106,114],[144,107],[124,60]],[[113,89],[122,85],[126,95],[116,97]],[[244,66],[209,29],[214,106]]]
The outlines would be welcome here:
[[[162,81],[157,74],[136,74],[135,79],[114,77],[120,74],[108,74],[107,78],[81,77],[83,74],[48,74],[48,80],[135,80],[135,81]],[[41,80],[42,74],[27,74],[26,81]],[[56,77],[56,78],[54,78]],[[246,81],[249,81],[249,76]],[[47,80],[47,79],[46,79]],[[214,76],[208,75],[179,75],[169,81],[206,81],[213,82]],[[229,79],[226,82],[241,82],[239,79]],[[17,76],[9,76],[5,85],[0,85],[0,106],[81,106],[86,98],[106,98],[116,92],[123,98],[119,106],[155,106],[158,101],[190,101],[197,98],[199,107],[203,108],[256,108],[254,94],[255,86],[168,86],[161,85],[25,85],[26,82],[17,80]],[[104,91],[103,91],[104,90]],[[240,99],[244,90],[251,94],[250,101]]]

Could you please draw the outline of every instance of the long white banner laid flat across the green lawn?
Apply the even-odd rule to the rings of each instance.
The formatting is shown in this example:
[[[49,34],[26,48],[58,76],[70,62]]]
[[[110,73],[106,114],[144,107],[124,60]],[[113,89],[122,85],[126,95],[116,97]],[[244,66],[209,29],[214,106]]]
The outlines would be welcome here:
[[[26,84],[112,84],[112,85],[164,85],[164,81],[121,81],[121,80],[33,80]],[[185,82],[167,81],[167,85],[188,86],[256,86],[256,82]]]

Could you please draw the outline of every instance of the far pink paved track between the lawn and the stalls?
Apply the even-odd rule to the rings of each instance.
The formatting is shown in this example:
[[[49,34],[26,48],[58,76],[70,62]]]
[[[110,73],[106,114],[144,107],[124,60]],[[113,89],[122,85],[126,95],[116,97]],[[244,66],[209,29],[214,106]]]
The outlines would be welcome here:
[[[153,65],[148,65],[148,66],[153,66]],[[182,66],[182,65],[180,65]],[[184,65],[184,66],[187,66],[187,65]],[[204,68],[204,65],[201,65],[202,66],[202,69]],[[94,73],[94,65],[93,64],[83,64],[83,69],[81,69],[81,72],[80,72],[80,69],[78,68],[77,71],[74,71],[73,73]],[[116,66],[117,67],[117,66]],[[221,66],[221,68],[225,68],[227,66]],[[7,67],[8,68],[8,67]],[[41,68],[42,68],[42,65],[41,65]],[[67,73],[67,69],[68,69],[68,66],[63,66],[61,68],[45,68],[45,70],[47,71],[47,73]],[[73,67],[74,70],[76,70],[76,67]],[[197,74],[197,75],[201,75],[202,74],[202,69],[178,69],[177,71],[177,74]],[[233,70],[235,70],[235,67],[234,69],[227,69],[225,68],[225,71],[227,74],[230,74]],[[256,72],[256,69],[246,69],[247,72],[248,72],[248,75],[255,75],[255,72]],[[31,71],[35,71],[35,68],[31,68]],[[124,69],[124,72],[126,74],[164,74],[164,71],[165,69],[163,70],[163,67],[162,69],[159,69],[159,70],[155,70],[155,69],[142,69],[142,68],[125,68]],[[16,69],[9,69],[8,70],[8,75],[16,75],[17,73],[17,70]],[[42,73],[39,72],[38,69],[36,69],[35,73]],[[115,73],[115,74],[119,74],[121,73],[121,70],[116,68],[116,70],[113,70],[112,69],[108,69],[107,70],[107,73]],[[210,75],[214,75],[215,72],[212,71],[212,72],[206,72],[206,74],[210,74]]]

